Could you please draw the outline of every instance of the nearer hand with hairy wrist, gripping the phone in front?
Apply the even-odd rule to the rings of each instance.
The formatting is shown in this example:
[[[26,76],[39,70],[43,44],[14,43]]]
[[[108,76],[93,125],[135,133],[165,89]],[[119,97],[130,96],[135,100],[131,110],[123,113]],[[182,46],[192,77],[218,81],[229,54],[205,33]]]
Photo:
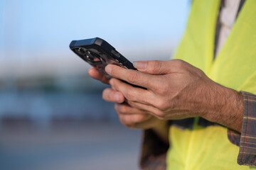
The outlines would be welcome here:
[[[112,88],[121,92],[132,108],[163,120],[201,116],[241,131],[242,95],[215,83],[201,69],[182,60],[135,62],[134,66],[140,72],[115,65],[105,68],[117,78],[110,80]]]

